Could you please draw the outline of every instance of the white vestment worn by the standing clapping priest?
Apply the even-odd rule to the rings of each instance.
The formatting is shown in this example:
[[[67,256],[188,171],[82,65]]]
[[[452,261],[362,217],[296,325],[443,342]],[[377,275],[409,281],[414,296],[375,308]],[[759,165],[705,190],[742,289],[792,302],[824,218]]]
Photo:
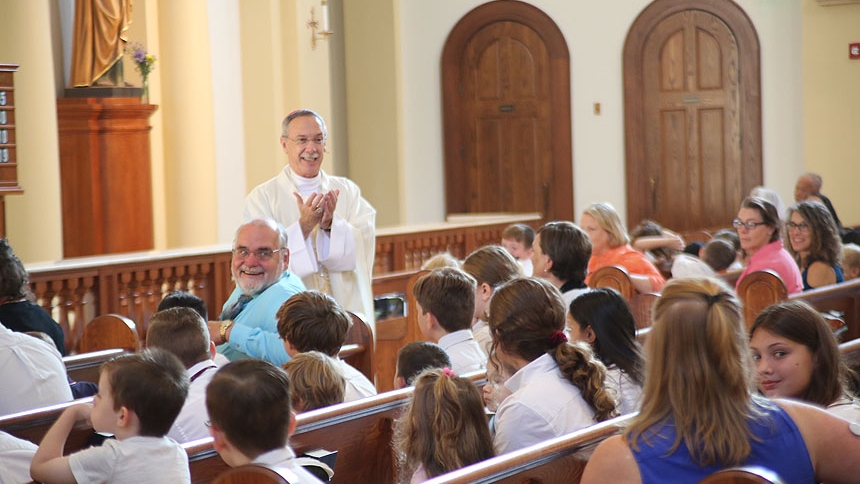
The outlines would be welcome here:
[[[361,197],[351,180],[320,172],[321,189],[340,190],[331,232],[314,229],[302,237],[298,193],[293,173],[284,167],[276,177],[257,186],[245,199],[245,221],[269,217],[287,228],[290,272],[308,289],[331,294],[347,311],[373,324],[371,274],[376,255],[376,210]],[[330,287],[326,287],[330,286]]]

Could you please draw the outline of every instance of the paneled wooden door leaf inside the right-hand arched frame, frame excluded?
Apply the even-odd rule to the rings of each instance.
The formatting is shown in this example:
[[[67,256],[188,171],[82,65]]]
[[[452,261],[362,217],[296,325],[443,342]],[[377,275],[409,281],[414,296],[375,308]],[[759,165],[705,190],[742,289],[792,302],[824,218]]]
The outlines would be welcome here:
[[[726,226],[747,181],[741,162],[738,45],[717,16],[681,11],[643,42],[643,159],[628,159],[629,223]],[[630,125],[628,125],[630,129]],[[630,147],[628,147],[630,148]],[[628,153],[632,150],[628,149]],[[634,189],[632,186],[638,185]]]

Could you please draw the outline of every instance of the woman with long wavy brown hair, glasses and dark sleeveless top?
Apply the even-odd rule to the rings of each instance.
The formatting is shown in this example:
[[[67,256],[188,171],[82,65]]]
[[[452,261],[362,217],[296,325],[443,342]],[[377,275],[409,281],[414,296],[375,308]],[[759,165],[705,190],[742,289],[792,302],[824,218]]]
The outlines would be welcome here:
[[[842,242],[836,222],[824,204],[804,201],[788,209],[788,253],[800,268],[803,290],[845,281]]]

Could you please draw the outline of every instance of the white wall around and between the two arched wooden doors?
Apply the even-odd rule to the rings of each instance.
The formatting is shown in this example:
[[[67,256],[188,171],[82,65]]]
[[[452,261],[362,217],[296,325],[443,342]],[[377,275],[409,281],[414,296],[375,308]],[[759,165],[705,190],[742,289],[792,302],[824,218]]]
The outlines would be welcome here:
[[[406,223],[444,218],[439,62],[451,28],[480,1],[401,1]],[[635,18],[650,2],[529,2],[550,15],[571,55],[574,210],[594,201],[625,212],[622,51]],[[791,194],[801,159],[800,0],[741,0],[761,42],[765,184]],[[592,105],[601,103],[602,114]],[[786,114],[788,113],[788,115]],[[416,161],[416,160],[420,160]],[[515,176],[516,174],[512,174]],[[623,213],[622,213],[623,215]],[[727,221],[728,223],[728,221]]]

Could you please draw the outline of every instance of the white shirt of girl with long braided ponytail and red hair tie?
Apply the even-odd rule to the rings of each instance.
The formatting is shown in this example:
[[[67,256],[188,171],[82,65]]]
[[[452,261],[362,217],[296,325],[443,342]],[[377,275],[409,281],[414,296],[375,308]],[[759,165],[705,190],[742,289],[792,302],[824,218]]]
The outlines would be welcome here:
[[[505,387],[513,393],[496,412],[493,445],[497,454],[595,424],[594,410],[549,354],[520,368]]]

